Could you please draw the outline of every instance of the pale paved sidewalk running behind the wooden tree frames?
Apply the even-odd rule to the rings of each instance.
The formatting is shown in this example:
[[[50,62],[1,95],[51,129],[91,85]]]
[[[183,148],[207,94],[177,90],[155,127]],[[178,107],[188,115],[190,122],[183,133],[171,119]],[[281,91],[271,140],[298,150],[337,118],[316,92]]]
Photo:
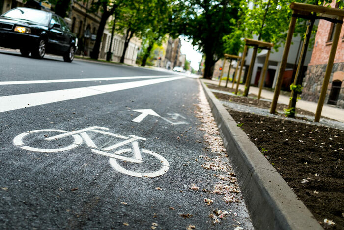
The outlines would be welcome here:
[[[214,85],[219,84],[218,80],[204,79],[204,82],[209,83],[209,84],[214,84]],[[221,86],[225,86],[225,84],[226,84],[226,81],[221,81]],[[232,83],[229,82],[228,86],[231,87],[231,84]],[[239,85],[240,90],[244,90],[244,87],[245,87],[244,85]],[[249,92],[251,94],[258,95],[259,88],[254,87],[254,86],[250,86]],[[273,96],[274,96],[274,92],[264,90],[264,89],[261,91],[261,97],[262,98],[272,100]],[[278,97],[278,103],[288,105],[289,104],[289,97],[280,94],[280,96]],[[307,111],[310,111],[313,113],[315,113],[316,107],[317,107],[317,103],[311,102],[311,101],[305,101],[305,100],[299,100],[296,104],[296,109],[301,108],[303,110],[307,110]],[[324,117],[328,117],[328,118],[340,121],[340,122],[344,122],[344,109],[335,108],[335,107],[328,106],[328,105],[324,104],[324,106],[322,108],[321,115]]]

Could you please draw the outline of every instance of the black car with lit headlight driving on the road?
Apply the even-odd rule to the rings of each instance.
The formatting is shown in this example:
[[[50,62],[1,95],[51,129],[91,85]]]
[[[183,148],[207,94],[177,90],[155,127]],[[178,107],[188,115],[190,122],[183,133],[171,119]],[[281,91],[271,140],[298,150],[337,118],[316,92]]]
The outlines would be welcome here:
[[[60,16],[18,7],[0,16],[0,46],[39,59],[45,53],[63,55],[64,61],[72,62],[78,39]]]

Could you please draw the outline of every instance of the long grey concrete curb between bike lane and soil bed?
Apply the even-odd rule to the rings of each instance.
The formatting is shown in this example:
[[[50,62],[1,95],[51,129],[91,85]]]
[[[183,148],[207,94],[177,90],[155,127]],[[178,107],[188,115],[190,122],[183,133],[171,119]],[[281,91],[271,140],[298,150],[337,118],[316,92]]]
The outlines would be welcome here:
[[[202,80],[201,84],[255,229],[323,230]]]

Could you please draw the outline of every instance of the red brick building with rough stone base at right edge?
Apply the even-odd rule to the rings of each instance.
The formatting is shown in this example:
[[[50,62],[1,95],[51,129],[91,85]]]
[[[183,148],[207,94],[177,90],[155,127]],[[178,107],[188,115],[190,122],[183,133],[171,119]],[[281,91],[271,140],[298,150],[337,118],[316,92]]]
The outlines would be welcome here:
[[[331,7],[335,7],[335,2]],[[301,98],[318,102],[320,91],[325,76],[327,61],[330,55],[335,24],[320,20],[315,36],[315,45],[311,61],[308,65],[306,77],[303,82]],[[332,68],[330,82],[328,84],[325,103],[344,108],[344,25],[342,26],[340,39]]]

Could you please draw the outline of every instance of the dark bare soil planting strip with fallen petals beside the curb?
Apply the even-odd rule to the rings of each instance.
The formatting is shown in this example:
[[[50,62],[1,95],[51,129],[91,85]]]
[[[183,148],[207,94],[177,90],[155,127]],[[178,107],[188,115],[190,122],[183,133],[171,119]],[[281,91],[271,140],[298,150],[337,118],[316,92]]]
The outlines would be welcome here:
[[[211,89],[232,89],[208,85]],[[271,102],[214,93],[218,99],[270,108]],[[279,104],[283,110],[286,105]],[[344,229],[344,131],[229,110],[238,126],[325,229]],[[314,115],[297,110],[299,114]],[[283,114],[281,115],[283,116]],[[282,118],[282,117],[281,117]],[[324,223],[324,219],[335,224]]]

